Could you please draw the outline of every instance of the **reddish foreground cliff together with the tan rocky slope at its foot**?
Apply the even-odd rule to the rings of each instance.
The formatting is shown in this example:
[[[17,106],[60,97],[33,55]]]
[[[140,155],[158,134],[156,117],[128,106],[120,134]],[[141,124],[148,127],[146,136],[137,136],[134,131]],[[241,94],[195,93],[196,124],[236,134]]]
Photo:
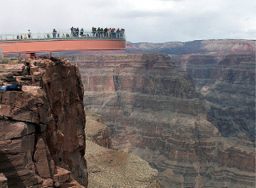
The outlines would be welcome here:
[[[101,116],[84,110],[78,66],[61,58],[2,66],[1,84],[22,90],[0,91],[0,187],[160,187],[158,170],[114,150]]]

